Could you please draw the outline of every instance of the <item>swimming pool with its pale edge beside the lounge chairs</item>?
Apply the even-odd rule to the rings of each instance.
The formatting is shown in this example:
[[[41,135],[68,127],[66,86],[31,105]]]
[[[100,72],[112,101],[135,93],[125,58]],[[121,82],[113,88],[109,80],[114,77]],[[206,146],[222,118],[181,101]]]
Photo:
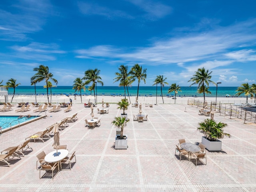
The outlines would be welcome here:
[[[0,127],[2,128],[2,132],[5,132],[7,129],[17,128],[43,117],[44,116],[0,116]]]

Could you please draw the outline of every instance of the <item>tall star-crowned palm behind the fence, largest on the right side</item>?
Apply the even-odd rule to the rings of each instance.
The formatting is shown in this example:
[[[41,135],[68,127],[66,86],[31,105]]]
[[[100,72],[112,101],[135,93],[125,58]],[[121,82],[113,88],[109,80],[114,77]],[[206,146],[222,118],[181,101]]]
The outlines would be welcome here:
[[[193,82],[190,86],[194,85],[194,84],[198,84],[198,89],[200,87],[202,87],[202,93],[204,93],[204,103],[205,103],[205,88],[207,86],[209,86],[209,83],[212,83],[214,85],[216,85],[215,82],[213,82],[211,80],[212,76],[211,76],[212,72],[209,73],[209,70],[206,70],[204,67],[201,69],[198,69],[195,74],[193,75],[192,78],[190,78],[190,80],[188,82]]]

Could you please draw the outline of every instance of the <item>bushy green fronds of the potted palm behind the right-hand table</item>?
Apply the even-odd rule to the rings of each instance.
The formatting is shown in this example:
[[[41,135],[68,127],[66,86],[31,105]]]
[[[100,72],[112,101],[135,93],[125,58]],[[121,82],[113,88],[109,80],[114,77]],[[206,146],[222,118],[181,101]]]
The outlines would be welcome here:
[[[202,132],[204,137],[210,141],[217,141],[224,138],[224,136],[231,137],[230,134],[224,133],[223,128],[227,126],[226,123],[217,123],[215,120],[207,118],[198,124],[197,130]]]

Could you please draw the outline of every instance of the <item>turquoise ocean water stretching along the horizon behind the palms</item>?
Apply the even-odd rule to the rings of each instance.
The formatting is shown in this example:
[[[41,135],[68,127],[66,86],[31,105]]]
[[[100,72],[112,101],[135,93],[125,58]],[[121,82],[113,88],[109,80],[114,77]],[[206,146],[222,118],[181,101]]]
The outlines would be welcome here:
[[[157,95],[161,95],[160,86],[157,87]],[[172,96],[174,95],[174,92],[168,93],[169,86],[165,86],[162,88],[163,96]],[[218,86],[218,97],[226,97],[226,94],[229,94],[230,97],[234,96],[236,94],[237,87],[221,87]],[[196,93],[197,87],[181,87],[182,92],[178,92],[176,96],[203,96],[203,94]],[[137,94],[137,86],[132,86],[128,88],[129,94],[131,96],[136,96]],[[212,94],[206,94],[207,97],[216,97],[216,86],[210,87],[209,91],[212,92]],[[95,90],[96,92],[96,90]],[[75,92],[72,90],[72,86],[57,86],[52,88],[52,94],[79,94],[79,92]],[[91,92],[86,90],[85,92],[82,90],[82,94],[90,94]],[[13,94],[13,88],[9,88],[8,94]],[[35,94],[35,88],[34,86],[18,86],[15,89],[15,94],[17,95],[34,95]],[[46,89],[43,88],[43,86],[36,86],[36,94],[46,94]],[[50,94],[50,89],[49,89]],[[92,92],[93,94],[93,92]],[[112,96],[112,95],[119,95],[124,94],[124,88],[118,87],[118,86],[97,86],[97,94],[98,95],[106,95],[106,96]],[[139,88],[139,94],[140,96],[156,96],[156,86],[140,86]],[[126,90],[127,95],[127,90]]]

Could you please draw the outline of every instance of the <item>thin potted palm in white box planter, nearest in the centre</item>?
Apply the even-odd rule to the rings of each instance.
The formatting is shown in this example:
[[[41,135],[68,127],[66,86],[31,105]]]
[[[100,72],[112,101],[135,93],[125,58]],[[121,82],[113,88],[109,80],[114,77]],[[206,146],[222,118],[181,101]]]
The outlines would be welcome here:
[[[112,124],[116,126],[116,143],[115,149],[127,149],[127,135],[123,135],[124,127],[129,122],[125,117],[115,117]],[[120,133],[120,134],[119,134]]]

